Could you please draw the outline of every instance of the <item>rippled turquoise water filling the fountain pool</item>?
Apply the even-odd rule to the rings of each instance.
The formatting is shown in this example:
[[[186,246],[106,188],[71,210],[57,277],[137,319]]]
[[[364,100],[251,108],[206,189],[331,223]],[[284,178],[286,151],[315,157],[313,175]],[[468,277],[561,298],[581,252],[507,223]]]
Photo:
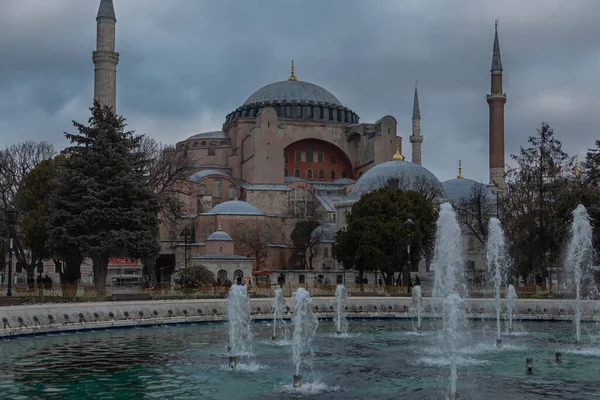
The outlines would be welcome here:
[[[495,346],[494,322],[472,322],[459,360],[461,399],[600,399],[600,343],[586,324],[573,348],[570,323],[522,323]],[[113,330],[0,342],[3,399],[443,399],[447,360],[435,323],[351,320],[348,337],[322,321],[313,372],[291,388],[291,348],[254,323],[250,364],[227,366],[226,326],[201,324]],[[587,343],[586,343],[587,341]],[[554,361],[555,351],[563,363]],[[534,373],[525,359],[534,359]]]

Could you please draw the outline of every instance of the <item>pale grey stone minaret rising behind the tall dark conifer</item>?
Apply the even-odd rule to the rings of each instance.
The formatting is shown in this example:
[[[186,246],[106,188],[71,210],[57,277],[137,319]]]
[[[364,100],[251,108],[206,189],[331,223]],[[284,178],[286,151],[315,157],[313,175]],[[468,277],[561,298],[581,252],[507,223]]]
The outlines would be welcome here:
[[[109,106],[113,112],[117,109],[117,64],[119,53],[115,52],[115,9],[112,0],[101,0],[96,33],[96,51],[92,60],[94,70],[94,100],[100,105]]]

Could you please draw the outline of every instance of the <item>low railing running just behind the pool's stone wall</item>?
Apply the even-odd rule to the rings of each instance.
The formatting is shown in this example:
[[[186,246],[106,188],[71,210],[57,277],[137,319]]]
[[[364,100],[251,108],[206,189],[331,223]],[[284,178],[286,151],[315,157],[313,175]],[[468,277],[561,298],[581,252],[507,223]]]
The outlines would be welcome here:
[[[280,285],[253,285],[248,286],[248,292],[252,297],[273,297],[275,289]],[[313,297],[335,296],[337,285],[335,284],[284,284],[281,285],[283,295],[291,295],[299,288],[306,289]],[[345,285],[348,296],[392,296],[408,297],[410,296],[406,286],[385,286],[377,284],[347,284]],[[502,297],[506,296],[506,288],[502,289]],[[560,291],[557,288],[550,290],[545,285],[528,285],[516,288],[519,298],[544,299],[544,298],[573,298],[570,292]],[[57,285],[52,288],[30,288],[27,285],[16,285],[13,287],[11,302],[0,302],[3,304],[13,304],[21,299],[22,303],[64,303],[64,302],[88,302],[88,301],[113,301],[113,300],[168,300],[168,299],[216,299],[225,298],[229,292],[227,286],[205,286],[198,288],[182,288],[169,284],[154,284],[152,286],[107,286],[105,294],[100,295],[100,291],[95,285]],[[0,286],[0,296],[6,295],[6,286]],[[422,290],[423,297],[431,296],[431,288],[426,285]],[[587,296],[587,291],[583,290],[582,297]],[[472,298],[491,298],[494,297],[493,289],[472,287],[469,288],[469,297]],[[6,298],[5,298],[6,299]]]

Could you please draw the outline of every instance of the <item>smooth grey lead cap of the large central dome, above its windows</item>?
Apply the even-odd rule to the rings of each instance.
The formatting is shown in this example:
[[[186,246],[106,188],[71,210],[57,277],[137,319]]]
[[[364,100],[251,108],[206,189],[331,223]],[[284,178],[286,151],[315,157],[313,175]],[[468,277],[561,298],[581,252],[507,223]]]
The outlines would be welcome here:
[[[244,105],[262,102],[321,102],[341,106],[340,101],[321,86],[304,81],[280,81],[263,86],[254,92]]]

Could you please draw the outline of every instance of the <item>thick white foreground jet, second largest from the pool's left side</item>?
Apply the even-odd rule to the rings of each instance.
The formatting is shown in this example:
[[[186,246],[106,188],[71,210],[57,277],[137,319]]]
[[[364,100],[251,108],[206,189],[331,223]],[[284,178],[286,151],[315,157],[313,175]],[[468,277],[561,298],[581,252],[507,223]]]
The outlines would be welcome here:
[[[315,338],[319,321],[313,314],[310,293],[304,288],[298,288],[292,295],[294,303],[294,315],[292,322],[294,324],[294,336],[292,337],[292,361],[296,367],[294,375],[294,387],[302,386],[302,376],[300,367],[302,364],[312,368],[314,352],[312,341]]]

